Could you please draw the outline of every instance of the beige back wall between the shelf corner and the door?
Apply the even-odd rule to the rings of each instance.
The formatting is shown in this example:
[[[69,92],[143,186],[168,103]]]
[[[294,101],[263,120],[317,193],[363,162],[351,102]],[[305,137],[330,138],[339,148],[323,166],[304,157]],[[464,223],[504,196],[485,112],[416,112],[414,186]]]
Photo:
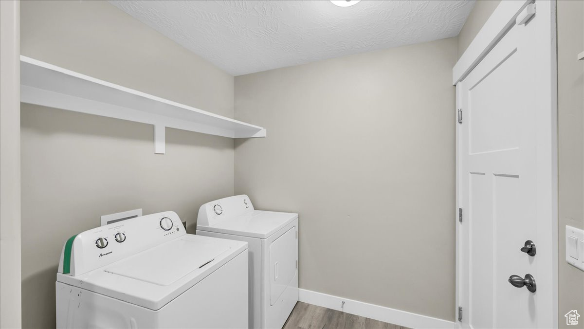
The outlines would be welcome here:
[[[454,320],[456,58],[444,39],[235,77],[235,117],[268,131],[235,142],[235,192],[300,214],[300,288]]]

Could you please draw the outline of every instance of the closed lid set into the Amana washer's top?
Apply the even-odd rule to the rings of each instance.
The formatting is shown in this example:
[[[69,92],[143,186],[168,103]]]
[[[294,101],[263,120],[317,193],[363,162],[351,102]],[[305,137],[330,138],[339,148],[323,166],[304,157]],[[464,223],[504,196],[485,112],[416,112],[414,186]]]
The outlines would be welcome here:
[[[225,244],[175,240],[116,262],[104,271],[127,278],[168,286],[230,250]]]

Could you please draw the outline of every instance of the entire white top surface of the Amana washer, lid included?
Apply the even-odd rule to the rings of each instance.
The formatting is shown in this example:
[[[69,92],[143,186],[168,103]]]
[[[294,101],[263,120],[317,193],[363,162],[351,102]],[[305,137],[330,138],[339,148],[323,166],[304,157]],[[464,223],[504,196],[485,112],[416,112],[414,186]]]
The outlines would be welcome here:
[[[185,234],[82,275],[57,273],[57,281],[159,310],[247,248],[244,241]]]

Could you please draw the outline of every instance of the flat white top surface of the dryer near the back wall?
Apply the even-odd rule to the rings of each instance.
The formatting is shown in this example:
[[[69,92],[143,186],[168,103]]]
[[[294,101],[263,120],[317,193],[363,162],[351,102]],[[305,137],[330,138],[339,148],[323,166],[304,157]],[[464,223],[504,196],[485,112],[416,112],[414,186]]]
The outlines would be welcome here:
[[[265,239],[297,218],[297,213],[253,210],[214,226],[197,225],[197,230]]]

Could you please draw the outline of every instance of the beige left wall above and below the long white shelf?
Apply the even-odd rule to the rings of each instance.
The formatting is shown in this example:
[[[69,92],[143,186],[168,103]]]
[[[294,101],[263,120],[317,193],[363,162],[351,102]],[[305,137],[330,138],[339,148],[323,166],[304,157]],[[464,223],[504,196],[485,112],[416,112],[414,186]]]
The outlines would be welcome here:
[[[21,5],[25,56],[232,117],[231,75],[107,2]],[[23,327],[54,326],[62,245],[100,215],[175,210],[193,233],[202,203],[233,194],[232,139],[167,129],[157,155],[153,131],[22,104]]]

